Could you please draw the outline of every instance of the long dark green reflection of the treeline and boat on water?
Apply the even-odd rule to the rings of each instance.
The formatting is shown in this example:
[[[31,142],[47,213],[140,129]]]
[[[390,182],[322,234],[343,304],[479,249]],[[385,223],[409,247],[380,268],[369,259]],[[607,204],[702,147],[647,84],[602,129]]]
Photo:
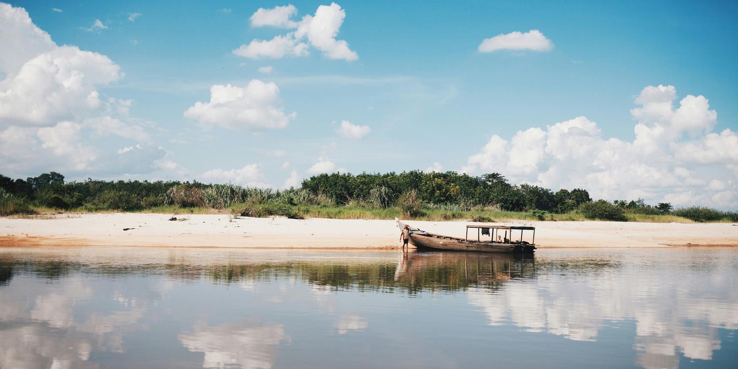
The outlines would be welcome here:
[[[213,283],[269,281],[283,277],[300,278],[306,283],[330,289],[362,291],[466,290],[469,287],[497,288],[515,278],[537,274],[598,272],[618,268],[617,258],[536,258],[534,255],[486,254],[477,252],[384,253],[379,257],[355,259],[317,259],[296,252],[289,258],[249,258],[249,250],[223,257],[223,252],[193,255],[187,252],[159,252],[146,255],[46,255],[44,258],[0,255],[0,287],[14,274],[30,273],[55,280],[70,273],[120,277],[162,275],[172,280],[199,280]],[[276,252],[275,252],[276,254]],[[261,257],[273,255],[263,252]],[[315,256],[320,254],[310,254]]]

